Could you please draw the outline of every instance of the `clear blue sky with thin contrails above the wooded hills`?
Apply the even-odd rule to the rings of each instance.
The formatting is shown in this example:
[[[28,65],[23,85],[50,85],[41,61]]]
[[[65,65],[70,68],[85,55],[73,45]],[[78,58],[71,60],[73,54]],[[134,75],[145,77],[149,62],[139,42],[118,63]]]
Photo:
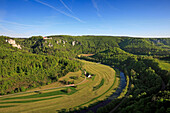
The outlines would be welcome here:
[[[0,0],[0,35],[170,36],[170,0]]]

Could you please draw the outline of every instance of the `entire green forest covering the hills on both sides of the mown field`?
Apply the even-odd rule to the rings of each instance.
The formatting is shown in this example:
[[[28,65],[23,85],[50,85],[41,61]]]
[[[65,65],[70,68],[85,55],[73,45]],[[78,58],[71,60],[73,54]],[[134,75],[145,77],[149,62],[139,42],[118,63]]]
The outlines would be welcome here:
[[[92,35],[47,38],[0,36],[1,95],[51,84],[68,72],[80,70],[82,63],[76,60],[79,58],[119,68],[130,78],[128,94],[115,112],[170,112],[170,70],[161,66],[162,62],[170,62],[169,38]],[[5,42],[8,39],[14,39],[22,49]],[[78,57],[80,54],[94,55]],[[108,113],[122,99],[99,108],[97,113]]]

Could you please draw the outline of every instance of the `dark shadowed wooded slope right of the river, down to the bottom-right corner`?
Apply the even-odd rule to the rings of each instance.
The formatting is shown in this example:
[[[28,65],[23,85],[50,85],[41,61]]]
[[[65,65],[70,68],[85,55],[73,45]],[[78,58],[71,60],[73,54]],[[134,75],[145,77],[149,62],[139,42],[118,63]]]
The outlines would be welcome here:
[[[93,58],[86,57],[86,59],[115,65],[131,78],[130,95],[116,112],[168,112],[170,74],[159,67],[158,60],[152,57],[131,55],[117,48],[100,52]],[[165,87],[162,82],[165,83]],[[113,103],[100,108],[98,112],[108,112],[111,110],[109,106]]]

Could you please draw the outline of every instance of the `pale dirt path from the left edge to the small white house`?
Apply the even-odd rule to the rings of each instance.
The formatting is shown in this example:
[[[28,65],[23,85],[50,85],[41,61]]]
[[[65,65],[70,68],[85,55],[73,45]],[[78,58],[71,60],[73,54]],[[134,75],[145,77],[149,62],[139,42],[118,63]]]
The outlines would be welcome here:
[[[18,95],[18,94],[24,94],[24,93],[31,93],[31,92],[35,92],[35,91],[45,91],[45,90],[50,90],[50,89],[58,89],[58,88],[64,88],[64,87],[70,87],[70,86],[77,86],[77,85],[82,84],[85,81],[86,81],[86,76],[85,76],[85,79],[83,81],[81,81],[80,83],[77,83],[77,84],[69,84],[69,85],[64,85],[64,86],[59,86],[59,87],[54,87],[54,88],[48,88],[48,89],[42,89],[42,90],[34,90],[34,91],[26,91],[26,92],[20,92],[20,93],[15,93],[15,94],[8,94],[8,95],[0,96],[0,97],[7,97],[7,96],[11,96],[11,95]]]

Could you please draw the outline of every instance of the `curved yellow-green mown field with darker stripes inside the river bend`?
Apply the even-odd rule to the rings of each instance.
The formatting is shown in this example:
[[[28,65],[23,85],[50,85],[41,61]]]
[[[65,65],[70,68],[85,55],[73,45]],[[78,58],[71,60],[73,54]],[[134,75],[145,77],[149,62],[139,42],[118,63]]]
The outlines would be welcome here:
[[[99,100],[107,98],[118,86],[119,78],[115,71],[106,65],[81,60],[83,68],[95,74],[94,80],[88,78],[77,87],[64,87],[40,92],[29,92],[25,94],[9,95],[0,97],[1,113],[53,113],[61,109],[78,108],[88,106]],[[81,71],[69,73],[61,79],[68,79],[71,76],[82,76]],[[77,81],[81,82],[84,77]],[[54,85],[54,84],[52,84]],[[55,84],[54,86],[57,87]],[[47,85],[41,89],[51,88]],[[95,88],[95,90],[94,90]]]

